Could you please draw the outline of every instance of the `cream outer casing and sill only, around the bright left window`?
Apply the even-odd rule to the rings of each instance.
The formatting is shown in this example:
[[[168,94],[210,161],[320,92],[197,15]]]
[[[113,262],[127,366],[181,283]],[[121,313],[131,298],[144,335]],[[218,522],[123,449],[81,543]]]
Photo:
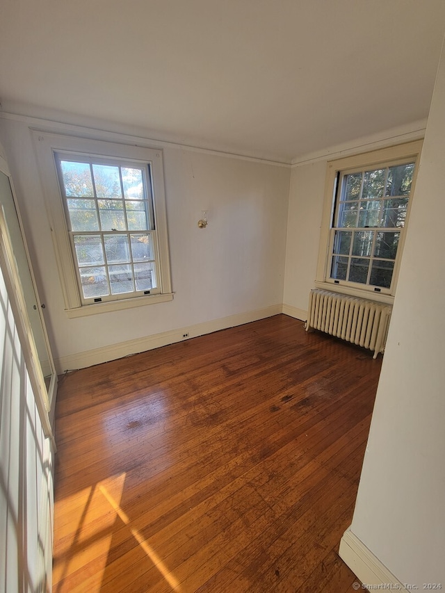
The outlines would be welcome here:
[[[162,150],[119,144],[105,140],[62,136],[60,134],[42,131],[31,130],[31,133],[40,167],[40,177],[49,223],[51,225],[51,236],[54,243],[67,316],[75,318],[172,300]],[[159,245],[158,277],[160,293],[94,304],[83,305],[81,303],[76,268],[74,267],[70,238],[68,236],[67,221],[58,184],[55,161],[55,153],[57,152],[77,152],[86,155],[110,157],[111,159],[122,158],[150,163],[152,167],[156,234]]]

